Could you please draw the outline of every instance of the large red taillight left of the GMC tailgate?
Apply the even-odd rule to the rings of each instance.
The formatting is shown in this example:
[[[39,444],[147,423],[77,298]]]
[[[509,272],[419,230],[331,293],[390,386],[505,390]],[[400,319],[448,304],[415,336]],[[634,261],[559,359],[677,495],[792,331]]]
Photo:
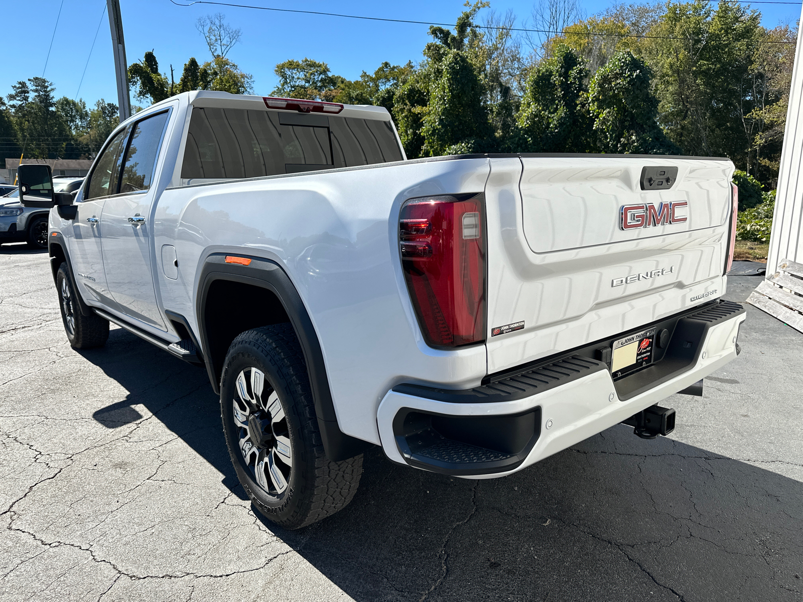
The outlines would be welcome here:
[[[484,230],[481,193],[415,198],[402,206],[402,268],[431,347],[485,340]]]

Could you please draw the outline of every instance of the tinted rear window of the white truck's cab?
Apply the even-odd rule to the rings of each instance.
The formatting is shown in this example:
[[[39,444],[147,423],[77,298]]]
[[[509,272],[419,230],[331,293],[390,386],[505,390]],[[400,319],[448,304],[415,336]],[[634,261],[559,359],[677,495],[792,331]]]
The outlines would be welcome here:
[[[389,120],[194,107],[181,184],[402,161]]]

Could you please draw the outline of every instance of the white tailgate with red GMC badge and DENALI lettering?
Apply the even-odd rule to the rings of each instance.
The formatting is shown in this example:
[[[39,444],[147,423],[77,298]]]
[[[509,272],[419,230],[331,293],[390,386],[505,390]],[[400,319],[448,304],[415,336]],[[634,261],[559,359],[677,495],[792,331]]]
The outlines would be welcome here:
[[[732,172],[714,159],[492,159],[488,372],[722,295]]]

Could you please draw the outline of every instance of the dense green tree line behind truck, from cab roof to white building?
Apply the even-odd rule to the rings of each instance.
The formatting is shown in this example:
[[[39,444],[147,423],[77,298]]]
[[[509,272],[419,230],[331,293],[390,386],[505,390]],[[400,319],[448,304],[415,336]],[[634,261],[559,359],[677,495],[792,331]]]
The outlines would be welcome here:
[[[491,13],[480,25],[488,3],[467,6],[454,30],[430,27],[434,41],[417,65],[382,63],[374,75],[349,81],[326,63],[289,60],[276,67],[274,92],[381,104],[410,158],[724,156],[753,181],[775,186],[796,39],[788,26],[768,30],[756,10],[733,2],[617,5],[561,26],[525,56],[515,18]],[[744,196],[745,208],[760,202],[748,189]]]

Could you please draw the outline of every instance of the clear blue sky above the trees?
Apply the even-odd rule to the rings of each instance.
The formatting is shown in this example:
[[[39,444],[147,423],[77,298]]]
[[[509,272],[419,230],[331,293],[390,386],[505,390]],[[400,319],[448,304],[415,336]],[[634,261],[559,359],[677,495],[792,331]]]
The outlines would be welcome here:
[[[177,0],[186,2],[186,0]],[[450,22],[463,9],[463,0],[407,0],[398,2],[365,2],[365,0],[307,0],[307,2],[275,2],[271,0],[235,0],[234,3],[321,10],[373,17],[407,18],[417,21]],[[27,0],[3,2],[6,22],[6,64],[0,76],[0,94],[11,92],[18,79],[42,75],[56,15],[62,0]],[[56,87],[56,96],[74,97],[78,92],[81,73],[87,66],[79,97],[94,104],[99,98],[116,103],[112,43],[108,16],[104,14],[106,0],[63,0],[55,41],[44,76]],[[592,0],[583,2],[587,14],[605,10],[613,2]],[[243,41],[230,52],[229,58],[254,75],[257,94],[267,95],[275,87],[273,68],[286,59],[311,59],[328,63],[332,73],[349,79],[361,71],[373,71],[382,61],[394,64],[414,62],[430,37],[427,27],[401,23],[371,22],[349,18],[304,14],[275,13],[230,6],[195,4],[175,6],[170,0],[120,0],[126,53],[132,63],[153,50],[162,72],[169,74],[170,64],[181,76],[181,68],[190,56],[198,62],[210,58],[202,36],[195,28],[198,17],[215,12],[226,14],[230,25],[243,30]],[[801,8],[796,5],[756,4],[763,14],[764,26],[778,22],[794,24]],[[519,22],[528,18],[532,0],[491,0],[498,12],[512,9]],[[483,11],[484,12],[484,11]],[[100,30],[98,23],[100,22]],[[35,24],[23,27],[22,24]],[[24,43],[28,32],[36,43]],[[87,63],[92,39],[98,31],[92,56]],[[132,104],[142,104],[132,98]]]

